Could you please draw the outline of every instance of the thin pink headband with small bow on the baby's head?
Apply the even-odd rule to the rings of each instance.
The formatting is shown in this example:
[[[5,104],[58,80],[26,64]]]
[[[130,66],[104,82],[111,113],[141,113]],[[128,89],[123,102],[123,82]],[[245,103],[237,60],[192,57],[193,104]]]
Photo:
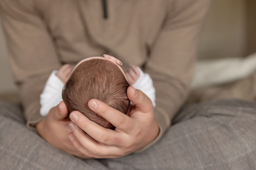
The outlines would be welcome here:
[[[110,55],[107,55],[107,54],[103,54],[103,56],[104,56],[104,57],[88,57],[88,58],[85,58],[85,59],[81,60],[81,61],[74,67],[74,69],[72,70],[72,73],[73,73],[73,71],[74,71],[82,62],[84,62],[84,61],[88,61],[88,60],[92,60],[92,59],[102,59],[102,60],[108,60],[108,61],[111,61],[112,63],[114,63],[114,64],[121,70],[121,72],[123,73],[123,75],[124,75],[126,81],[128,82],[127,77],[126,77],[126,75],[125,75],[123,69],[120,67],[120,66],[123,65],[122,62],[121,62],[120,60],[116,59],[115,57],[110,56]],[[71,73],[71,74],[72,74],[72,73]]]

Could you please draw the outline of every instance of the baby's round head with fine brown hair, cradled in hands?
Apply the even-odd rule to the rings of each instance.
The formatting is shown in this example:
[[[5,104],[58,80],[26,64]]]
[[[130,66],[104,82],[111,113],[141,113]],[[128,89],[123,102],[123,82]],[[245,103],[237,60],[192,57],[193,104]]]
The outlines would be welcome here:
[[[98,99],[127,114],[130,106],[126,95],[129,83],[120,68],[114,62],[97,58],[79,63],[62,91],[68,112],[80,111],[91,121],[114,129],[110,122],[88,107],[88,101]]]

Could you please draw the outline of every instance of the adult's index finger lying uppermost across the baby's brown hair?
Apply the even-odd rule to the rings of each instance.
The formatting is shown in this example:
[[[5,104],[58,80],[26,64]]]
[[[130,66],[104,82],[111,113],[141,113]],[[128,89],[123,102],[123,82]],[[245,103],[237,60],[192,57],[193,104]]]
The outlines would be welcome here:
[[[134,127],[134,122],[129,116],[108,106],[100,100],[91,99],[88,102],[88,106],[93,112],[101,115],[112,125],[124,132],[127,132]]]

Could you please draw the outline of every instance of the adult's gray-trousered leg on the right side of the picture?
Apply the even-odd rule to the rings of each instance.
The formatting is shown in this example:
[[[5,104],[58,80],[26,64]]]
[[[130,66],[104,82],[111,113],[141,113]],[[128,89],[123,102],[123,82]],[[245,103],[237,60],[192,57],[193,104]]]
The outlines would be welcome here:
[[[187,106],[158,143],[111,163],[137,169],[253,169],[255,122],[254,102],[229,99]]]

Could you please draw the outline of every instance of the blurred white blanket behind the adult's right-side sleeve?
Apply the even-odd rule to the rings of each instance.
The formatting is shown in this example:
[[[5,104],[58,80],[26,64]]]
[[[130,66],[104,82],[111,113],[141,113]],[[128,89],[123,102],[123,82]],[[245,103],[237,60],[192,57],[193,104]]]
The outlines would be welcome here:
[[[242,79],[256,71],[256,53],[236,57],[198,61],[191,89],[228,83]]]

